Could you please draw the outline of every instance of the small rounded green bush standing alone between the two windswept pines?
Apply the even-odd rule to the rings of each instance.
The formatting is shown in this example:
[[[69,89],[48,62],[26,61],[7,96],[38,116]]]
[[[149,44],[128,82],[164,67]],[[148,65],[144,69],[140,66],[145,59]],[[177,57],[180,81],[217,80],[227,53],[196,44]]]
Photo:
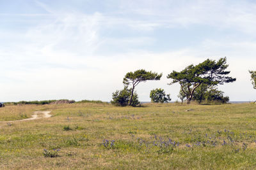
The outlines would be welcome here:
[[[170,94],[165,94],[163,89],[154,89],[150,91],[150,98],[153,103],[168,103],[171,101]]]

